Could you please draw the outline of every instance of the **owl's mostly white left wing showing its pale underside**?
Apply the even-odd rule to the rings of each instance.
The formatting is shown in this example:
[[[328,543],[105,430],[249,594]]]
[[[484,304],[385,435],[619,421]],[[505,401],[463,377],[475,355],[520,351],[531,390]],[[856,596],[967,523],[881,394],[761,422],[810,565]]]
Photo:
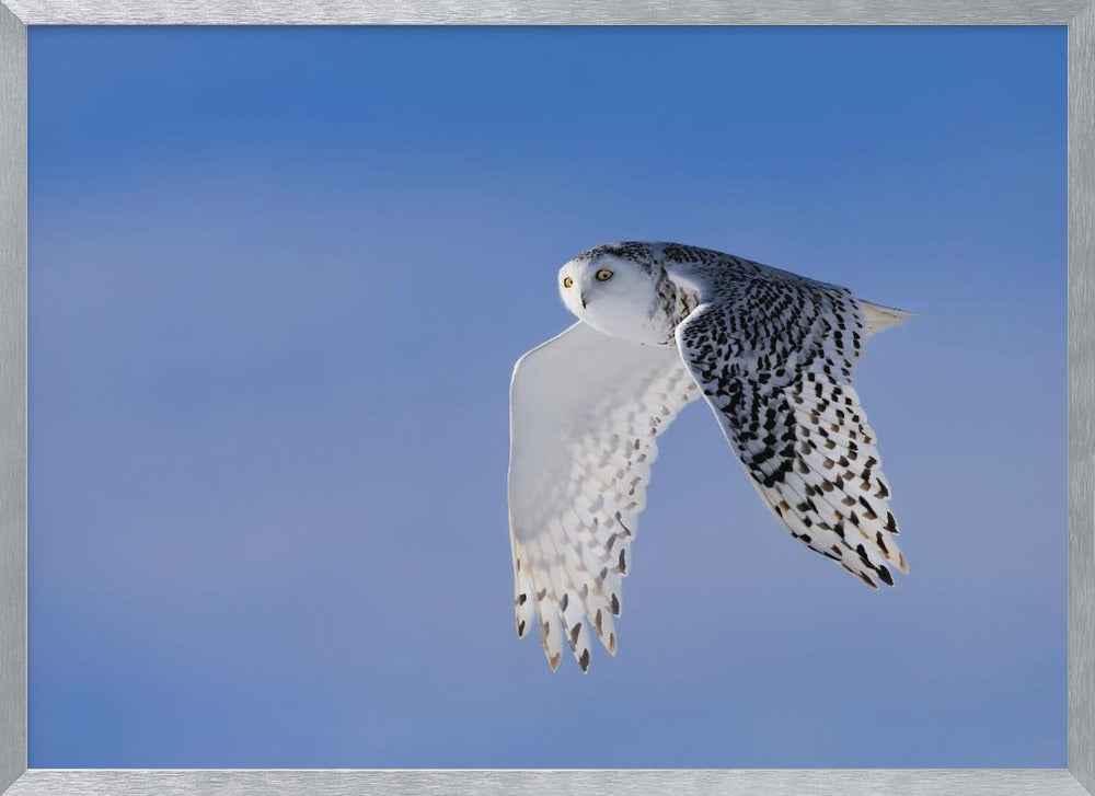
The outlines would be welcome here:
[[[563,638],[583,671],[588,668],[584,615],[615,653],[612,616],[620,613],[655,438],[698,395],[673,346],[638,345],[580,322],[514,368],[509,528],[517,633],[523,636],[535,621],[552,670]]]

